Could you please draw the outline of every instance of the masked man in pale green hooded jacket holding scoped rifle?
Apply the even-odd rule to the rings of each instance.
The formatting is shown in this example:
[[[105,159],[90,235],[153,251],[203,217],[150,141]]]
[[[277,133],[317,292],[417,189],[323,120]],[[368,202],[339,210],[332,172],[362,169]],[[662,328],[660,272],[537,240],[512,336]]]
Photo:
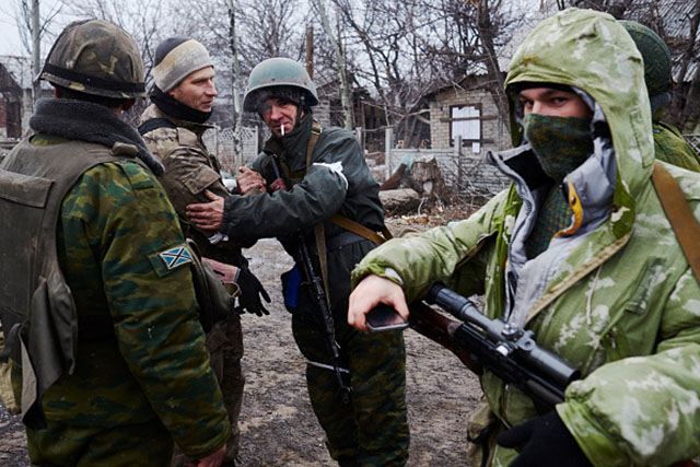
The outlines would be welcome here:
[[[512,186],[467,220],[387,242],[352,272],[359,329],[378,302],[407,317],[406,301],[441,281],[483,294],[487,316],[532,329],[581,370],[548,413],[485,371],[470,465],[700,454],[700,285],[650,179],[655,164],[667,171],[697,219],[700,174],[654,162],[643,80],[612,16],[570,9],[541,22],[506,78],[516,148],[488,155]]]

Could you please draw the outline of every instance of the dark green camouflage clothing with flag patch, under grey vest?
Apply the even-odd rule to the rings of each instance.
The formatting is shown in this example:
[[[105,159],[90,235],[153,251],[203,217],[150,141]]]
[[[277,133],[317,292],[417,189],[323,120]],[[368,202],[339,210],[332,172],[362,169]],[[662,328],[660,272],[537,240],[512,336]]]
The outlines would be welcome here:
[[[27,429],[33,463],[168,465],[173,440],[191,457],[223,445],[184,238],[155,177],[132,162],[89,170],[63,200],[58,238],[78,358],[45,394],[48,428]]]

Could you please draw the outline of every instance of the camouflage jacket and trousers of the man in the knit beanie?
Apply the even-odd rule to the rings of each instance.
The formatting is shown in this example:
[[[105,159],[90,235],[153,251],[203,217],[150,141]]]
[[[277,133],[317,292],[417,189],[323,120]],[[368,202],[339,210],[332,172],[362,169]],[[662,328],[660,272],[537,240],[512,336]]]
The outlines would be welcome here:
[[[247,267],[241,246],[231,241],[212,245],[207,235],[190,227],[186,221],[185,208],[192,202],[208,201],[205,190],[219,196],[228,196],[220,175],[220,165],[202,141],[202,133],[210,127],[167,117],[155,105],[150,105],[141,116],[141,122],[154,118],[167,118],[177,128],[158,128],[143,136],[148,148],[165,166],[159,180],[173,202],[186,235],[197,243],[203,257],[237,267]],[[241,367],[243,358],[243,332],[241,317],[232,315],[226,323],[212,328],[207,335],[207,349],[211,367],[221,386],[232,436],[229,440],[226,460],[233,463],[240,445],[238,416],[243,399],[245,378]],[[175,455],[173,465],[188,462],[186,456]]]

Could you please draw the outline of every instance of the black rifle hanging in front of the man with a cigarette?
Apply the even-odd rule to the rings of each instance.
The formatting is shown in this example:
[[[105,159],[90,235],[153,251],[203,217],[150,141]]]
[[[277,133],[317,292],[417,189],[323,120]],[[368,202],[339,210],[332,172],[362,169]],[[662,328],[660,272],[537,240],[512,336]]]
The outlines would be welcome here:
[[[271,186],[275,187],[275,189],[287,189],[287,184],[284,182],[284,178],[282,177],[282,172],[280,171],[280,165],[277,157],[278,156],[276,154],[272,154],[271,156],[272,171],[275,172],[276,177]],[[338,386],[340,387],[340,390],[342,393],[342,401],[345,404],[348,404],[350,401],[350,387],[342,380],[342,374],[340,372],[340,346],[336,340],[335,323],[332,319],[330,307],[328,305],[328,297],[326,296],[324,281],[320,275],[316,272],[316,267],[314,266],[311,254],[308,253],[308,247],[306,246],[306,241],[303,234],[299,235],[298,243],[298,260],[301,261],[304,280],[308,285],[311,285],[311,295],[314,300],[314,303],[316,304],[316,308],[318,310],[320,324],[324,327],[326,348],[328,349],[328,353],[330,354],[332,371],[336,374]]]

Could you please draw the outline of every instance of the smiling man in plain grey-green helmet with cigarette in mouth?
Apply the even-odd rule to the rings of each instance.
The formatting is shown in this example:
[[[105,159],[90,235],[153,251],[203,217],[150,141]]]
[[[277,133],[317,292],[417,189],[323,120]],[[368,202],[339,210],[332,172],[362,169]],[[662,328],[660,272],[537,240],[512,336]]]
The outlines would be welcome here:
[[[292,312],[294,339],[307,359],[308,394],[331,457],[348,466],[404,465],[409,431],[402,336],[366,335],[348,326],[350,270],[375,243],[338,225],[334,217],[342,214],[372,234],[381,230],[378,186],[354,136],[314,121],[312,106],[317,103],[314,83],[295,61],[272,58],[255,67],[244,108],[257,112],[272,137],[252,164],[252,174],[261,174],[270,191],[225,200],[212,196],[211,203],[188,207],[188,215],[200,227],[230,236],[279,238],[296,262],[284,276],[285,305]],[[279,160],[282,174],[276,172],[272,157]],[[247,178],[241,177],[241,187],[248,185]],[[287,189],[279,189],[282,184]],[[320,225],[340,371],[351,389],[349,404],[343,401],[312,287],[294,280],[303,270],[300,233],[322,271],[315,238]]]

